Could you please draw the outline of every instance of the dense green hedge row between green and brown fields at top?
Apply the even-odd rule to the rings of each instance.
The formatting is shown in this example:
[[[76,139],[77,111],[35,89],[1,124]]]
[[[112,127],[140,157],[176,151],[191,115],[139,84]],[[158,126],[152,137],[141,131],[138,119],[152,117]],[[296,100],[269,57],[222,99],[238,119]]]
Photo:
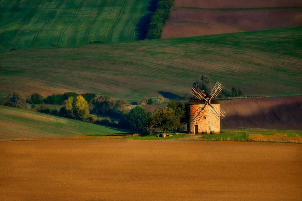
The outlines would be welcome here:
[[[162,28],[165,20],[169,17],[170,8],[174,5],[174,0],[159,0],[156,10],[152,14],[146,29],[146,39],[159,39],[162,35]]]

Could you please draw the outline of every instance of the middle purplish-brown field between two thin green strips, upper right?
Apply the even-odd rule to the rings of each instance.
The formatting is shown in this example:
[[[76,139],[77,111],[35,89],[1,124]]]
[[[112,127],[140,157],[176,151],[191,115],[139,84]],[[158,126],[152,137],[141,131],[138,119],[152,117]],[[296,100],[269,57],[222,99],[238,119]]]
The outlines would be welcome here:
[[[167,22],[203,22],[242,30],[259,30],[274,27],[302,25],[301,9],[272,10],[200,10],[178,8],[170,14]],[[183,30],[184,33],[188,30]],[[223,33],[217,30],[216,33]]]

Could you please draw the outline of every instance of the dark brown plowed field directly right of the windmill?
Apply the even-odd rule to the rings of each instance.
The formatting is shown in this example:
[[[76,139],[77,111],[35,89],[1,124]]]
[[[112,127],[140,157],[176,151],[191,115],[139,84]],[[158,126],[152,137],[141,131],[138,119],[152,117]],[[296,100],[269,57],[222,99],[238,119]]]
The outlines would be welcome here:
[[[220,101],[221,129],[302,130],[302,95]]]

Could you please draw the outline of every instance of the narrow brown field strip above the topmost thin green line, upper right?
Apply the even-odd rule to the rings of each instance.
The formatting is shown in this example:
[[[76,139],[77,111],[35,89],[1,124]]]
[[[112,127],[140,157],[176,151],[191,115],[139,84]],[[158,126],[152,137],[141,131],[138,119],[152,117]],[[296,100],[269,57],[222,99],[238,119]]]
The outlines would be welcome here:
[[[175,7],[195,8],[268,8],[268,7],[302,7],[300,0],[175,0]]]

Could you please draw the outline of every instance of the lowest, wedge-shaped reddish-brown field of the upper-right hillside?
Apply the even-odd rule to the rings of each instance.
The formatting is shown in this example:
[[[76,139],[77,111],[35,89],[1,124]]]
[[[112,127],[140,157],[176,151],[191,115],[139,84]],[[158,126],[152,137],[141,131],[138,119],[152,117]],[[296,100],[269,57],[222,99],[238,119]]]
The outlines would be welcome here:
[[[216,24],[203,23],[167,23],[163,28],[162,38],[175,38],[184,36],[201,36],[216,33],[234,33],[241,30],[224,27]]]

